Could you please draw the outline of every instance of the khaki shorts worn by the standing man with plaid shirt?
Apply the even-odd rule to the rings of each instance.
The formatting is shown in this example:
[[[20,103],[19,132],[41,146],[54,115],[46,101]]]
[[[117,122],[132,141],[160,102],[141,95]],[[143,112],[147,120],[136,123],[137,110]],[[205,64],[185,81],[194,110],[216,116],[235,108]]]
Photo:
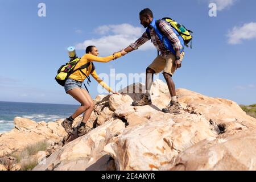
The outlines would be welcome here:
[[[180,61],[182,62],[182,59],[184,57],[184,52],[180,53]],[[155,73],[160,73],[163,71],[163,73],[169,73],[170,75],[173,75],[175,72],[174,67],[174,61],[176,57],[175,55],[171,54],[168,56],[161,56],[155,58],[155,60],[148,66],[148,68],[151,68],[155,71]]]

